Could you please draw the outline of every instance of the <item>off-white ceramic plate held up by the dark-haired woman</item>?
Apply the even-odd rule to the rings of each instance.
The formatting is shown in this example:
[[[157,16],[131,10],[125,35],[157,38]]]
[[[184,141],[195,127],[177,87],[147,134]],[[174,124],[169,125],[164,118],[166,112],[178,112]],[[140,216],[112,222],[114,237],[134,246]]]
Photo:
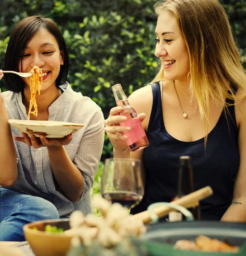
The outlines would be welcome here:
[[[63,138],[72,134],[84,125],[69,122],[37,121],[37,120],[15,120],[9,119],[10,125],[26,134],[33,134],[35,137],[44,135],[46,138]]]

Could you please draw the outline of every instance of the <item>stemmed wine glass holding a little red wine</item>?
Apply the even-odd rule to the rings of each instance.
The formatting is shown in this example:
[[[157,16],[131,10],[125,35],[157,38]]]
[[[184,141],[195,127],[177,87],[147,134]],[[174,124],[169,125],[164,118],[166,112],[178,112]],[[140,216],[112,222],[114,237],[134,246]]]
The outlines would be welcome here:
[[[106,159],[101,183],[103,198],[129,209],[135,207],[143,198],[141,171],[141,161],[138,159]]]

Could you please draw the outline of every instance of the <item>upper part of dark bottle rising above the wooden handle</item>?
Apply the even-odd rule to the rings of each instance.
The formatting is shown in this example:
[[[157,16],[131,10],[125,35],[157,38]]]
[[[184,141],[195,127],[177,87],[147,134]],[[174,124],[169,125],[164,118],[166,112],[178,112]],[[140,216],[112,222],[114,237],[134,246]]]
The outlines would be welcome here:
[[[182,197],[192,192],[194,192],[194,183],[191,158],[180,159],[177,197]]]

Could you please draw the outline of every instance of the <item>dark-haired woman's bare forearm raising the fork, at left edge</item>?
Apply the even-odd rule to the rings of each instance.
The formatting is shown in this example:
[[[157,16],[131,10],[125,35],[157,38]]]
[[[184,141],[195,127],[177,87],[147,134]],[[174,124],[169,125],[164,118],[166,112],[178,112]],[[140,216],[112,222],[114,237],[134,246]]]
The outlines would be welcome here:
[[[0,80],[2,78],[0,71]],[[17,158],[8,120],[0,90],[0,185],[6,187],[12,186],[17,179]]]

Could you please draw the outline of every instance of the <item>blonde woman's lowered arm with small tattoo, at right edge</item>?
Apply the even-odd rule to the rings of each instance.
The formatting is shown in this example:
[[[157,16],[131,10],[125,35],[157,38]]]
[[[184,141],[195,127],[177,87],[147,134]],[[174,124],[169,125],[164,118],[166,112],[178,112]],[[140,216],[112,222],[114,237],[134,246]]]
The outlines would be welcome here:
[[[246,222],[246,99],[235,106],[238,125],[238,149],[240,166],[234,185],[232,204],[227,209],[221,221]]]

